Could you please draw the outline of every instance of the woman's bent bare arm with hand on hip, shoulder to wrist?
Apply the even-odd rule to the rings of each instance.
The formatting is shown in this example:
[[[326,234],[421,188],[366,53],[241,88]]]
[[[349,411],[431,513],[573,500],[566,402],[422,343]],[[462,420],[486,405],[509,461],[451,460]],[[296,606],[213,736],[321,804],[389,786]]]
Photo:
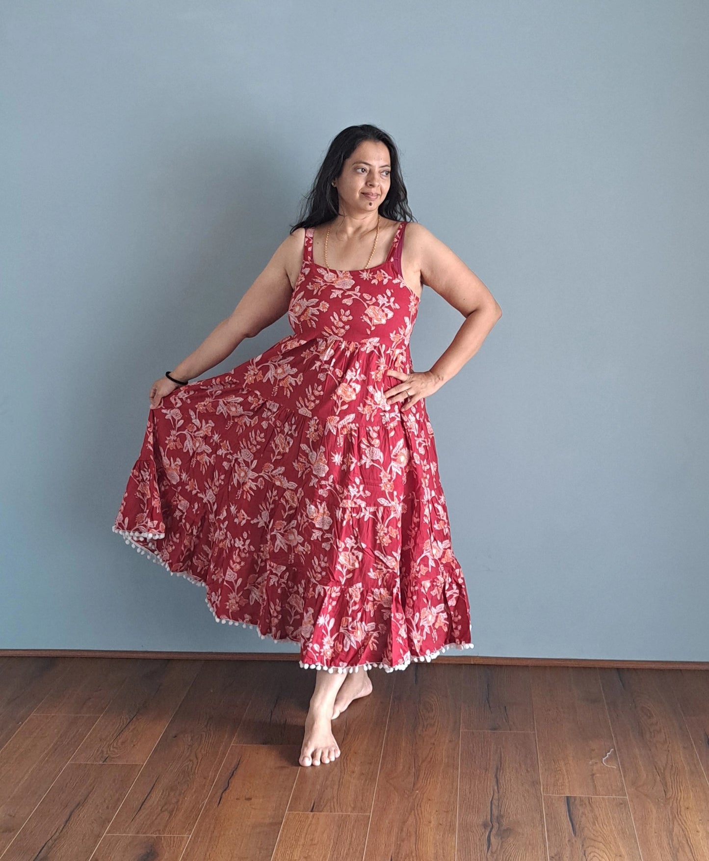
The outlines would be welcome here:
[[[413,229],[410,248],[421,271],[422,283],[465,317],[453,342],[429,371],[440,387],[475,356],[502,317],[502,308],[472,269],[426,227],[413,223],[406,229]]]

